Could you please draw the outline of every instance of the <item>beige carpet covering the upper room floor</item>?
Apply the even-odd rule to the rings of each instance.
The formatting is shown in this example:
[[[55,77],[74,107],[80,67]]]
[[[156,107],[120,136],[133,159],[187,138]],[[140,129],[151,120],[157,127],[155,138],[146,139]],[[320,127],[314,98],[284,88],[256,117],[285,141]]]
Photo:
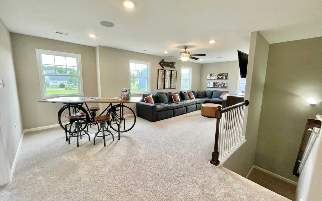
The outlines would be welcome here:
[[[26,133],[0,200],[287,200],[209,164],[215,120],[200,110],[150,123],[121,140],[69,145],[61,128]],[[94,130],[92,130],[92,133]]]

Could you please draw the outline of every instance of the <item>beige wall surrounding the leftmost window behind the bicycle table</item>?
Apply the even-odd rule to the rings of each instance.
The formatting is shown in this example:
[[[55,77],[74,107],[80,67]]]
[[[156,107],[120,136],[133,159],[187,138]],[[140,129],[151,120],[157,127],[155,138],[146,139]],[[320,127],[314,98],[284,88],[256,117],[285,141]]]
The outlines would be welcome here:
[[[57,113],[63,106],[38,103],[41,100],[35,49],[81,54],[85,96],[97,96],[95,48],[74,43],[11,33],[24,129],[58,123]]]

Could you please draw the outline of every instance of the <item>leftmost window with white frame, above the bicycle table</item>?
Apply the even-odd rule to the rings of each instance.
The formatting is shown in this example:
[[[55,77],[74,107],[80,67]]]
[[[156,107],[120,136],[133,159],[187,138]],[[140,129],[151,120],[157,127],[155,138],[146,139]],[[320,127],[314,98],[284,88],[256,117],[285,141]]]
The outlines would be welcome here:
[[[36,57],[43,99],[83,96],[80,54],[36,49]]]

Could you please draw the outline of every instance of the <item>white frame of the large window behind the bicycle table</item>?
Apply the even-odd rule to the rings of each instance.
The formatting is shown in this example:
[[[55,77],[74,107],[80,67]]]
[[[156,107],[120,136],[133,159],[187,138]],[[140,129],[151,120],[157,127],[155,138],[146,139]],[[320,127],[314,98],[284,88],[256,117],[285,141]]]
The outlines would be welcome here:
[[[52,50],[36,50],[36,59],[37,59],[37,66],[38,66],[38,76],[39,76],[39,83],[40,83],[40,93],[42,99],[47,98],[56,98],[62,96],[84,96],[83,91],[83,76],[82,76],[82,69],[81,69],[81,55],[68,53],[68,52],[59,52],[59,51],[52,51]],[[57,95],[46,95],[46,81],[45,76],[53,76],[52,74],[45,74],[42,68],[42,61],[41,61],[41,54],[48,54],[53,56],[62,56],[62,57],[74,57],[77,60],[78,68],[77,68],[77,77],[78,77],[78,91],[77,94],[57,94]],[[66,77],[76,77],[75,75],[59,75],[59,76],[66,76]]]

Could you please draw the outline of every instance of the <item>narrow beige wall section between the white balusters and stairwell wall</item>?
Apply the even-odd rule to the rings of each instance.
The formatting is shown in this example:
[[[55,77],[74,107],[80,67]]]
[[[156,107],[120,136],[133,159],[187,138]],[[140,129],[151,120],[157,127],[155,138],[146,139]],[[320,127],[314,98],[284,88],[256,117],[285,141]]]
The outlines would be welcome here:
[[[245,107],[243,125],[247,141],[224,163],[225,168],[244,177],[254,165],[268,52],[269,43],[259,32],[252,32],[245,90],[245,100],[250,103]]]

